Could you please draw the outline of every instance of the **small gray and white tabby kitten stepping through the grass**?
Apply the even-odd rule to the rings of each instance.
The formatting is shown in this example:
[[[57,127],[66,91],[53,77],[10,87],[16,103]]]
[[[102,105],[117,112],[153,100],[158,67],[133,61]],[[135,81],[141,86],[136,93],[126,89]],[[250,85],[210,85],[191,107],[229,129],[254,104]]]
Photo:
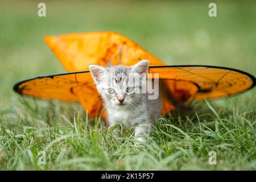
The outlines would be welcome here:
[[[150,123],[159,118],[162,110],[160,95],[150,100],[147,90],[142,92],[142,88],[147,88],[148,61],[142,60],[131,67],[90,65],[89,68],[104,100],[109,126],[115,123],[135,126],[134,137],[139,142],[146,142]]]

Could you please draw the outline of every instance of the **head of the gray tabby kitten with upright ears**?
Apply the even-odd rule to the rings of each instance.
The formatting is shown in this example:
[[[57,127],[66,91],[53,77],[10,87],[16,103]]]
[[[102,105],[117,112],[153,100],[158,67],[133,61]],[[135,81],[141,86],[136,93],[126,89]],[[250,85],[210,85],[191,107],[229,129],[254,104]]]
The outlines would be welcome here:
[[[104,68],[90,65],[89,68],[98,92],[106,104],[133,106],[141,102],[142,88],[146,88],[147,60],[131,67],[117,65]]]

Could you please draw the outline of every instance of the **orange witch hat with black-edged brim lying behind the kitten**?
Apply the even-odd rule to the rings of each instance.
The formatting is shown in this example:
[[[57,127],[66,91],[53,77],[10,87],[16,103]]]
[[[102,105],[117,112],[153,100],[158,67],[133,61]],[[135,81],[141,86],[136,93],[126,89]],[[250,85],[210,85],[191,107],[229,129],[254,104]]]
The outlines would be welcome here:
[[[106,118],[103,103],[90,75],[89,65],[109,67],[117,64],[133,65],[140,60],[150,61],[148,78],[158,73],[163,94],[162,114],[178,102],[221,98],[244,92],[255,85],[248,73],[222,67],[202,65],[167,66],[132,40],[115,32],[90,32],[46,36],[47,45],[68,72],[32,78],[19,82],[14,90],[37,98],[81,102],[90,117]],[[79,72],[81,71],[81,72]],[[103,111],[103,112],[102,112]]]

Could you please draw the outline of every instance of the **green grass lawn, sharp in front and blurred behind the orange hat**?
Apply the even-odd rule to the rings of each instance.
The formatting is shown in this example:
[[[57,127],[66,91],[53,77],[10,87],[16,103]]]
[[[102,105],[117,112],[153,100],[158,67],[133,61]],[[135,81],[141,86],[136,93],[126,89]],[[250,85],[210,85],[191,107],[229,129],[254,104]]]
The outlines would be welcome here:
[[[0,169],[255,170],[256,91],[195,103],[152,126],[148,144],[134,147],[133,129],[121,138],[79,104],[38,101],[15,94],[15,82],[65,72],[43,35],[117,31],[167,64],[232,67],[255,76],[254,1],[208,2],[0,1]],[[46,152],[46,164],[38,162]],[[208,163],[216,151],[217,164]]]

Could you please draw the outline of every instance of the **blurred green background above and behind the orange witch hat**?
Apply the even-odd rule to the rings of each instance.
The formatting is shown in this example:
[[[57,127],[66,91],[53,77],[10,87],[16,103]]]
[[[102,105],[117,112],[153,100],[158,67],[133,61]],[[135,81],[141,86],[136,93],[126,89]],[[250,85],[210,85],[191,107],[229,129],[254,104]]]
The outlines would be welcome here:
[[[46,17],[38,16],[39,2]],[[210,2],[0,1],[0,105],[16,100],[15,82],[65,72],[44,35],[116,31],[170,65],[220,65],[255,76],[255,1],[214,1],[217,17],[208,15]]]

